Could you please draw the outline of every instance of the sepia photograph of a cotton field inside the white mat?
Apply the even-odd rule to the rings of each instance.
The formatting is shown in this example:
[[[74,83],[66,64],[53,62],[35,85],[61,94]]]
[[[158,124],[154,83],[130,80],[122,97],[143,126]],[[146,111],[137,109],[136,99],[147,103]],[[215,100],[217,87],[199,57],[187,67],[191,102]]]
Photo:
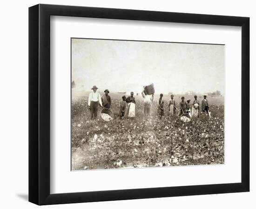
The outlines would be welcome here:
[[[71,38],[71,170],[223,164],[225,45]]]

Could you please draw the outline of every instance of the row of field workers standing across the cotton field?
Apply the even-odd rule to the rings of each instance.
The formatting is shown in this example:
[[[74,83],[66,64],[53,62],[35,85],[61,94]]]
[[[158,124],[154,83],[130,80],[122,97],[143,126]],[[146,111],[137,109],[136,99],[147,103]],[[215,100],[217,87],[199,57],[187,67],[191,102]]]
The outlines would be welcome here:
[[[108,95],[109,91],[106,89],[104,92],[104,95],[100,95],[99,92],[97,92],[97,86],[92,87],[92,92],[89,94],[88,98],[88,106],[91,113],[91,120],[96,120],[97,114],[98,114],[98,106],[100,105],[101,108],[107,108],[110,109],[111,107],[111,97]],[[148,117],[150,115],[150,109],[154,101],[154,91],[150,94],[148,93],[146,86],[143,87],[143,90],[141,92],[141,95],[143,97],[144,102],[144,116]],[[201,102],[201,111],[204,113],[206,112],[207,115],[210,115],[209,111],[209,102],[207,100],[207,96],[204,95],[204,98]],[[190,99],[185,101],[185,98],[182,97],[179,105],[179,110],[176,108],[176,102],[174,99],[174,95],[171,95],[171,98],[168,101],[168,115],[171,117],[176,116],[176,111],[178,110],[178,116],[181,117],[185,113],[189,115],[190,118],[198,118],[200,113],[200,102],[197,99],[197,96],[194,96],[193,103],[190,103]],[[130,96],[122,96],[121,101],[119,102],[119,118],[135,118],[136,112],[135,112],[135,97],[134,92],[132,91],[130,93]],[[163,94],[160,94],[160,98],[158,99],[157,103],[157,112],[160,119],[164,116],[164,100],[163,100]]]

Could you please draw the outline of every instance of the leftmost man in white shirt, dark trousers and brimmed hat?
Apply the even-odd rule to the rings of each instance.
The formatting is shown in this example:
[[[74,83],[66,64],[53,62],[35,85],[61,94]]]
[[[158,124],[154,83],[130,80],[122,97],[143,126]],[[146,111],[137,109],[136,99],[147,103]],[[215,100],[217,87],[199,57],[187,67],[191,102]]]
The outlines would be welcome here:
[[[99,92],[96,92],[97,89],[98,89],[97,86],[94,85],[92,87],[93,92],[91,92],[89,94],[89,98],[88,98],[88,105],[89,105],[89,109],[91,111],[91,120],[97,119],[99,104],[102,107],[101,95]]]

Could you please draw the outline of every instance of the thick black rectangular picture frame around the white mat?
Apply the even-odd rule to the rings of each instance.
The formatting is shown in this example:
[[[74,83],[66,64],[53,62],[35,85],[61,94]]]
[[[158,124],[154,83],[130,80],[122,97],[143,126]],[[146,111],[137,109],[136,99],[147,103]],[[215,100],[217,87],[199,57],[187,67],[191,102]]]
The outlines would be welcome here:
[[[241,183],[50,194],[50,16],[242,26]],[[242,105],[241,105],[242,106]],[[29,8],[29,202],[98,202],[249,191],[249,18],[39,4]]]

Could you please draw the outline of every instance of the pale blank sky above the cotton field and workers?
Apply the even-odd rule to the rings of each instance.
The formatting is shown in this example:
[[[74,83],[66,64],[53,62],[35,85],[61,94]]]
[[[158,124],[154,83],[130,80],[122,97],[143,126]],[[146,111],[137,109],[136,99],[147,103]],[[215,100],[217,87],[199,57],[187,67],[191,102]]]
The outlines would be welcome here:
[[[225,91],[225,46],[72,39],[72,80],[90,91]]]

